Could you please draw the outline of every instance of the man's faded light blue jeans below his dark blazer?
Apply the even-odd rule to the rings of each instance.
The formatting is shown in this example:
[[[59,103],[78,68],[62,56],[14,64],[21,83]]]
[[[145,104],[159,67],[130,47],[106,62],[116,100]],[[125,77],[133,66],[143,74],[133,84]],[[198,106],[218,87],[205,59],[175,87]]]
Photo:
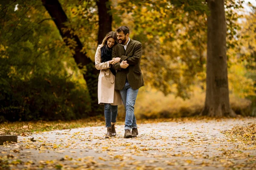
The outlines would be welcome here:
[[[131,85],[129,84],[128,80],[126,79],[125,87],[120,90],[122,102],[125,106],[125,130],[132,128],[137,128],[137,122],[136,117],[134,115],[134,105],[135,100],[137,98],[139,89],[134,90],[131,88]]]

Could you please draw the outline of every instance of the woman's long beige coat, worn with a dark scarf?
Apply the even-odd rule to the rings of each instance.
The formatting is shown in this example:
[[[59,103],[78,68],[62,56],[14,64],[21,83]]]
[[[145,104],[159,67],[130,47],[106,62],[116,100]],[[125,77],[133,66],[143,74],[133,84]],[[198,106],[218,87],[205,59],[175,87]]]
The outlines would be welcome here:
[[[95,68],[100,70],[98,80],[98,103],[110,103],[111,105],[122,105],[119,90],[115,90],[115,76],[110,71],[110,63],[101,62],[101,51],[103,45],[99,45],[95,54]]]

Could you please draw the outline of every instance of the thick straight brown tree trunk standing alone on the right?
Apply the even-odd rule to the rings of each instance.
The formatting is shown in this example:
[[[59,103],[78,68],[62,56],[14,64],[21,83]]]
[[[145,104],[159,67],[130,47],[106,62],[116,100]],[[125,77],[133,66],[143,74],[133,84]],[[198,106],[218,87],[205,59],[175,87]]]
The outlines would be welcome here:
[[[224,0],[208,0],[208,6],[206,99],[202,115],[236,116],[229,100]]]

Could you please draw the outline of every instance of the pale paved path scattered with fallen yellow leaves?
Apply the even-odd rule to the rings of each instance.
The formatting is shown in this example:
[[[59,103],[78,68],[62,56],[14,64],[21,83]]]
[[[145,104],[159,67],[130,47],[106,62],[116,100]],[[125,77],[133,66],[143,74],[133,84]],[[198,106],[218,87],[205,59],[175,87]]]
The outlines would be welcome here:
[[[116,126],[117,136],[111,139],[105,139],[105,127],[18,136],[17,144],[0,146],[0,164],[2,169],[8,161],[5,169],[256,170],[256,146],[231,142],[222,133],[255,122],[244,118],[140,124],[139,135],[130,139],[123,138],[123,125]]]

